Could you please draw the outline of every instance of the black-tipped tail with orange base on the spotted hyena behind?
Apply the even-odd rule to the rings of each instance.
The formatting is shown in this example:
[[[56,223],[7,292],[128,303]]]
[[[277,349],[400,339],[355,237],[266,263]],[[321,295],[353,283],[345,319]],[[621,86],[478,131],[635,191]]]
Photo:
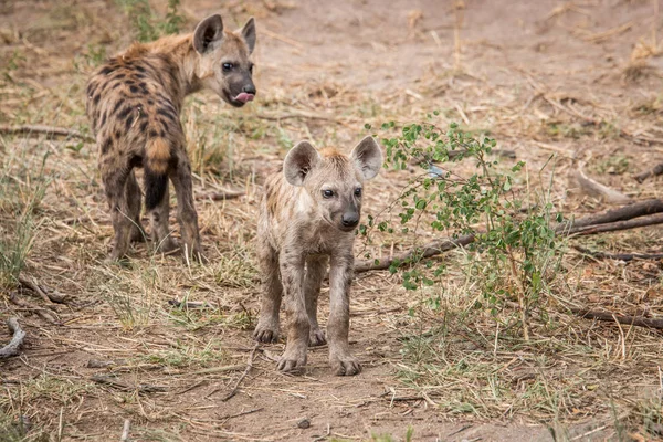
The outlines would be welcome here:
[[[145,154],[145,206],[151,210],[161,202],[168,188],[170,145],[165,138],[150,138]]]

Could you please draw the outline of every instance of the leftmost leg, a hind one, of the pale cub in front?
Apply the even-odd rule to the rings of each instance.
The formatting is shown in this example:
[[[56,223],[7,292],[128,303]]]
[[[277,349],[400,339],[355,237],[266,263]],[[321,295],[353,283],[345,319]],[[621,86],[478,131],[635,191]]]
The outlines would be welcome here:
[[[262,273],[262,294],[260,319],[253,330],[253,338],[259,343],[276,343],[278,340],[278,311],[283,286],[278,277],[278,254],[267,243],[265,235],[257,235],[257,261]]]

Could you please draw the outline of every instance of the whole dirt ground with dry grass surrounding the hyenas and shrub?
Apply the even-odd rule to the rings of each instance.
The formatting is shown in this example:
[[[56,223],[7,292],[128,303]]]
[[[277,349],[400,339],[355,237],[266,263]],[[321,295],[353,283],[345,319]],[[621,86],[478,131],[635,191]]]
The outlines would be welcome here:
[[[165,12],[165,1],[150,3]],[[0,4],[1,125],[88,134],[86,76],[133,40],[118,4]],[[559,309],[556,332],[541,327],[532,346],[498,348],[493,323],[450,315],[459,324],[441,357],[448,366],[439,379],[446,381],[412,382],[410,375],[430,372],[434,364],[414,364],[408,339],[425,336],[444,313],[409,314],[431,292],[407,292],[399,273],[368,272],[352,288],[350,341],[364,367],[359,376],[333,376],[326,347],[309,350],[304,376],[280,373],[274,360],[284,344],[256,349],[251,339],[260,186],[293,141],[350,149],[368,133],[366,123],[419,120],[440,109],[442,124],[490,133],[530,170],[555,155],[552,194],[566,213],[611,207],[572,192],[578,186],[569,177],[578,165],[633,200],[662,198],[663,177],[633,179],[663,159],[663,15],[656,10],[651,0],[182,0],[186,29],[217,12],[227,25],[250,15],[257,23],[256,101],[236,110],[201,92],[182,115],[211,262],[189,265],[138,244],[128,265],[104,264],[112,225],[94,144],[1,134],[9,182],[2,189],[15,191],[0,196],[0,234],[18,234],[15,208],[45,186],[22,274],[69,301],[49,306],[19,293],[63,324],[52,325],[10,302],[15,285],[0,294],[0,317],[18,316],[28,334],[20,357],[0,360],[0,441],[21,440],[18,422],[29,430],[27,440],[119,440],[125,420],[136,441],[388,441],[406,440],[409,428],[417,441],[663,436],[655,401],[663,344],[654,329]],[[371,181],[365,217],[383,210],[412,173],[385,171]],[[224,189],[245,194],[210,197]],[[661,253],[661,233],[653,227],[575,241]],[[357,254],[387,255],[430,235],[358,241]],[[569,250],[567,285],[555,303],[663,315],[661,260],[601,261]],[[453,293],[444,301],[453,309],[464,286],[460,271],[445,277],[431,291]],[[176,308],[170,299],[210,308]],[[320,307],[325,318],[327,303]],[[490,376],[455,375],[452,368],[464,360],[492,367]],[[486,379],[493,378],[505,382],[499,399],[488,398]]]

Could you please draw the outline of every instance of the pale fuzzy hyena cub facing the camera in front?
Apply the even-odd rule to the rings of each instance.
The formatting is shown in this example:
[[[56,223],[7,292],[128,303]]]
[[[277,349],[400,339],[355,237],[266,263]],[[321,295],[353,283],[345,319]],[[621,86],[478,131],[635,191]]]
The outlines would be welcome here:
[[[361,211],[362,182],[382,166],[372,137],[350,156],[335,149],[317,151],[299,143],[285,157],[283,173],[265,183],[257,225],[257,254],[263,271],[263,295],[257,327],[261,343],[278,339],[278,309],[285,292],[288,319],[282,371],[301,371],[307,347],[326,343],[317,322],[320,284],[329,266],[329,364],[339,376],[361,371],[350,354],[350,283],[355,228]]]

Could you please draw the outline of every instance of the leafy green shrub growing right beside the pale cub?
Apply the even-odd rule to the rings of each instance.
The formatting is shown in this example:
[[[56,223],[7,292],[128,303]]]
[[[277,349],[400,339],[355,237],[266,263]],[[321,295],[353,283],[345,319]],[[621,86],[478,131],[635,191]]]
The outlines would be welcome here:
[[[561,214],[554,211],[549,187],[548,191],[532,189],[525,162],[504,170],[498,161],[490,159],[494,139],[476,139],[455,124],[443,131],[432,123],[436,115],[428,115],[425,123],[404,125],[398,135],[382,139],[386,167],[406,169],[417,162],[424,170],[390,206],[399,208],[398,227],[369,217],[368,225],[359,231],[368,234],[377,228],[404,234],[428,224],[434,232],[473,236],[467,248],[472,253],[470,273],[478,282],[484,299],[477,301],[475,307],[486,305],[496,314],[503,305],[516,302],[523,335],[528,340],[530,307],[555,277],[552,270],[560,256],[551,222],[561,221]],[[382,130],[394,127],[393,122],[381,126]],[[463,160],[475,166],[469,177],[451,171],[452,164]],[[514,183],[522,181],[527,190],[514,190]],[[422,252],[423,249],[415,249],[407,262],[394,262],[390,267],[396,273],[400,265],[409,264],[402,273],[407,290],[431,286],[445,271],[444,265],[423,260]]]

